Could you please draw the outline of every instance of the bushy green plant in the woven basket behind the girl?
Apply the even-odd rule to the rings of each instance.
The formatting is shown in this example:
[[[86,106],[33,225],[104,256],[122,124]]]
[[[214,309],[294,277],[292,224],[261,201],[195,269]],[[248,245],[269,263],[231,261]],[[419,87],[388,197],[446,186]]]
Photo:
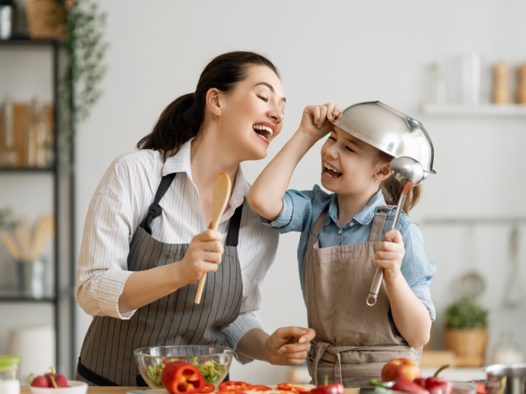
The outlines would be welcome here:
[[[446,327],[487,328],[488,310],[469,299],[451,304],[446,311]]]

